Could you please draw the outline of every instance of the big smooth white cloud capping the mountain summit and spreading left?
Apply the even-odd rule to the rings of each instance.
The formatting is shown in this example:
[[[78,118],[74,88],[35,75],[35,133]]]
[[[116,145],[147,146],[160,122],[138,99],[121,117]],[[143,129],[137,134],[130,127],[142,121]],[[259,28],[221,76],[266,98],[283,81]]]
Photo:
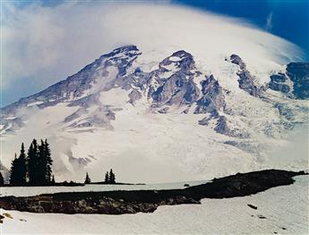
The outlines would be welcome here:
[[[2,25],[2,89],[21,77],[47,86],[124,44],[275,62],[298,53],[284,39],[245,22],[167,4],[5,4]]]

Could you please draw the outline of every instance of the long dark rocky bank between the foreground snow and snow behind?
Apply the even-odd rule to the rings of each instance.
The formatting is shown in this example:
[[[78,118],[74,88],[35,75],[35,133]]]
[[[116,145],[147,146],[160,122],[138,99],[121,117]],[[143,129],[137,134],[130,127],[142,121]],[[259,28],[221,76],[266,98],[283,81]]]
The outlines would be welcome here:
[[[238,173],[185,189],[58,193],[0,197],[0,207],[31,213],[152,213],[159,205],[200,204],[202,198],[249,196],[289,185],[304,171],[262,170]]]

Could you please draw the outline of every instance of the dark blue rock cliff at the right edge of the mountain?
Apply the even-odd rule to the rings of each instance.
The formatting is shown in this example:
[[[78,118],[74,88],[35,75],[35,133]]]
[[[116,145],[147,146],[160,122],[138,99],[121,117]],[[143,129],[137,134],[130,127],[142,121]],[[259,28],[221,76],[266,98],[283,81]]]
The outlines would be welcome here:
[[[309,63],[289,63],[287,74],[293,84],[293,94],[297,99],[309,98]]]

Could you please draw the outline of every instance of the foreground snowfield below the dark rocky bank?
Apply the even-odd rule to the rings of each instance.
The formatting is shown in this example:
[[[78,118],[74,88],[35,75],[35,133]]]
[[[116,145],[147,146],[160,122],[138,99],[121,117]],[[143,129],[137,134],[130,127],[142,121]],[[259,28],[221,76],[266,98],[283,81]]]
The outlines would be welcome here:
[[[160,206],[154,213],[68,215],[6,211],[13,219],[4,219],[1,234],[308,234],[308,179],[299,176],[293,185],[270,188],[253,196],[203,199],[202,205]],[[258,208],[254,210],[247,204]]]

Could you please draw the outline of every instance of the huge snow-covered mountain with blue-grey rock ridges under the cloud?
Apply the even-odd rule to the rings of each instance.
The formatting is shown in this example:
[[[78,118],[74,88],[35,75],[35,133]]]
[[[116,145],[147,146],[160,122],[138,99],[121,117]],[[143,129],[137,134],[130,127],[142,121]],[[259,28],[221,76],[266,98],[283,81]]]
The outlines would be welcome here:
[[[212,178],[269,167],[270,150],[308,121],[309,63],[153,54],[116,48],[2,108],[4,166],[21,142],[48,138],[57,178],[99,180],[109,168],[125,181]]]

